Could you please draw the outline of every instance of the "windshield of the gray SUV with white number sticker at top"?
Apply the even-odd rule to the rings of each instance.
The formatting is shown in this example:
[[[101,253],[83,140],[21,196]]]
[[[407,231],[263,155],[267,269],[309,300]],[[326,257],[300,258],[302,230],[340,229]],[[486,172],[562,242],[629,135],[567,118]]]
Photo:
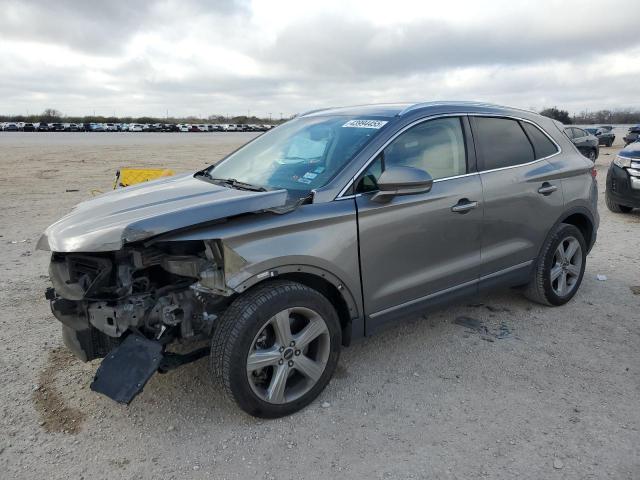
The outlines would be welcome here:
[[[207,176],[302,198],[331,180],[388,123],[380,117],[302,117],[291,120],[209,167]]]

